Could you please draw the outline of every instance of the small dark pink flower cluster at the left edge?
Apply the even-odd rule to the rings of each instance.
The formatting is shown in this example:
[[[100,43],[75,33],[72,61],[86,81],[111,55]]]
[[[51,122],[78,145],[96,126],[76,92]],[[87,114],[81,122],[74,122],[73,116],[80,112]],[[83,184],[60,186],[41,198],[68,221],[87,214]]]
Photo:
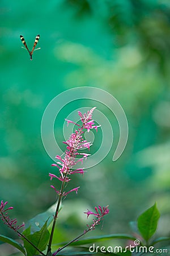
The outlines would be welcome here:
[[[8,207],[7,209],[5,209],[5,205],[8,202],[3,203],[3,201],[1,201],[1,206],[0,206],[0,218],[3,221],[4,224],[6,224],[8,226],[8,228],[13,229],[15,232],[17,232],[18,229],[22,228],[22,226],[24,226],[24,224],[22,225],[16,225],[17,224],[17,220],[16,218],[14,218],[14,220],[12,220],[12,218],[10,218],[8,216],[7,210],[12,210],[13,207]]]

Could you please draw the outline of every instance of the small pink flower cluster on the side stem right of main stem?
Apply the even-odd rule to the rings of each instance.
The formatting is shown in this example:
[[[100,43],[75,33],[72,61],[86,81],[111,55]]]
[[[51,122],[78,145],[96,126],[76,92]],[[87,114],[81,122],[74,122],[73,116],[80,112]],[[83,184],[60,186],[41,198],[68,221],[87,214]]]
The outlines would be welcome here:
[[[101,206],[99,205],[98,209],[97,209],[97,207],[95,207],[95,210],[96,210],[96,212],[92,212],[91,210],[87,209],[87,212],[84,212],[87,214],[87,218],[90,215],[94,215],[96,217],[95,219],[93,219],[93,223],[91,225],[87,224],[88,229],[84,230],[84,233],[87,233],[87,231],[90,231],[90,230],[94,230],[95,226],[100,224],[100,220],[102,220],[104,215],[109,213],[108,205],[107,205],[107,207],[103,207],[103,208],[101,208]]]

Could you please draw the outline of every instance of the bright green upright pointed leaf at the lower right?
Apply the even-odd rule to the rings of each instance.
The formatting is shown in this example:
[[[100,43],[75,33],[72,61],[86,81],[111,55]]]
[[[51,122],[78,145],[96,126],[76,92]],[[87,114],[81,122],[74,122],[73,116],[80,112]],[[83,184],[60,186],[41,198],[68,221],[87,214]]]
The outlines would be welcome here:
[[[138,217],[138,229],[142,237],[148,241],[156,231],[160,213],[156,203]]]

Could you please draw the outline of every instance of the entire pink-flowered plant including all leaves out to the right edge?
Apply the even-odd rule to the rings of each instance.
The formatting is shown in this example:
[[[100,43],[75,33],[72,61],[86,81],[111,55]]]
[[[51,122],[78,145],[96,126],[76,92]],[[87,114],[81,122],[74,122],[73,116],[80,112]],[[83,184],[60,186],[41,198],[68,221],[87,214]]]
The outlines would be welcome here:
[[[147,209],[143,212],[137,219],[136,222],[133,222],[133,232],[135,236],[131,236],[129,234],[108,234],[104,236],[97,236],[87,239],[80,240],[84,234],[94,230],[97,225],[100,224],[100,221],[103,220],[103,217],[109,213],[108,206],[95,207],[95,210],[88,210],[84,212],[87,214],[87,218],[90,216],[94,216],[91,224],[87,224],[86,229],[79,234],[79,236],[73,238],[69,242],[60,243],[57,249],[54,250],[53,246],[53,235],[56,227],[56,221],[59,214],[59,209],[61,206],[62,199],[65,199],[67,195],[71,192],[78,193],[78,189],[80,187],[76,187],[71,189],[70,191],[66,191],[66,185],[72,179],[73,174],[84,174],[83,168],[76,168],[76,163],[83,162],[84,159],[88,158],[89,154],[80,153],[80,148],[88,148],[90,150],[91,143],[87,142],[83,139],[84,130],[90,131],[91,129],[96,129],[99,126],[96,126],[94,120],[92,120],[92,113],[95,108],[92,108],[89,112],[82,114],[78,112],[82,126],[74,123],[73,121],[67,120],[67,123],[74,123],[74,125],[78,126],[78,128],[74,131],[73,134],[70,135],[70,138],[63,142],[66,144],[65,156],[61,157],[59,155],[56,156],[57,163],[52,164],[52,166],[57,167],[59,170],[59,175],[49,174],[50,180],[57,179],[61,182],[60,189],[56,188],[54,185],[51,187],[57,194],[58,200],[56,205],[56,211],[53,215],[50,214],[50,211],[47,210],[45,213],[39,214],[31,221],[28,221],[25,225],[18,225],[16,218],[10,218],[8,211],[12,210],[13,207],[7,207],[7,201],[4,203],[1,201],[0,205],[0,218],[3,223],[8,226],[8,228],[14,230],[20,238],[24,241],[23,245],[11,238],[0,235],[0,241],[9,243],[10,245],[16,247],[22,254],[25,256],[55,256],[55,255],[81,255],[81,254],[97,254],[103,255],[103,253],[114,254],[114,255],[148,255],[148,253],[168,253],[168,249],[158,248],[156,249],[155,245],[160,242],[169,242],[170,237],[159,237],[153,239],[155,236],[156,228],[158,225],[158,220],[160,217],[160,213],[156,204],[154,204],[151,208]],[[80,156],[80,158],[77,158]],[[50,229],[49,225],[52,223],[52,228]],[[39,225],[37,225],[39,224]],[[24,231],[20,230],[25,227]],[[50,230],[50,232],[49,232]],[[95,242],[100,242],[103,240],[113,240],[113,239],[121,239],[128,240],[125,247],[121,246],[95,246]],[[89,248],[84,246],[79,247],[79,251],[69,251],[71,246],[80,246],[92,244]],[[82,251],[80,251],[82,249]],[[141,253],[142,252],[142,253]],[[146,252],[146,253],[145,253]]]

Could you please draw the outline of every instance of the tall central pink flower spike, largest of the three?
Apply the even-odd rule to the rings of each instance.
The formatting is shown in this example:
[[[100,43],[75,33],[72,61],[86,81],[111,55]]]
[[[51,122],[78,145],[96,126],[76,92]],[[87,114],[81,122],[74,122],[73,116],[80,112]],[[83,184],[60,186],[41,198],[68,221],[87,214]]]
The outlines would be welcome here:
[[[70,135],[67,141],[63,142],[66,144],[65,156],[64,158],[61,158],[61,156],[57,155],[56,156],[56,159],[58,160],[57,164],[52,164],[52,166],[56,166],[58,168],[60,176],[58,177],[54,174],[49,174],[50,180],[52,180],[54,177],[62,181],[63,183],[65,182],[67,183],[71,180],[70,179],[71,174],[84,174],[83,168],[78,168],[76,170],[73,170],[73,167],[78,162],[83,163],[83,159],[86,159],[87,156],[90,155],[86,153],[80,153],[78,152],[78,150],[82,148],[88,148],[89,150],[91,146],[91,143],[87,142],[83,138],[84,129],[86,129],[87,131],[90,131],[90,129],[97,130],[97,127],[100,127],[100,126],[94,125],[94,120],[92,120],[92,113],[94,112],[94,109],[95,108],[92,108],[90,111],[84,114],[78,111],[78,115],[80,116],[80,120],[82,121],[82,126],[78,125],[73,121],[66,119],[67,125],[69,125],[69,123],[74,123],[74,125],[78,126],[78,129],[75,130],[74,133]],[[78,155],[80,155],[81,158],[77,159]],[[61,195],[61,191],[58,191],[53,185],[51,187],[56,191],[58,195]],[[79,187],[71,189],[71,191],[67,193],[70,193],[72,191],[75,191],[77,193],[78,188]],[[62,196],[66,196],[67,193],[63,192]]]

